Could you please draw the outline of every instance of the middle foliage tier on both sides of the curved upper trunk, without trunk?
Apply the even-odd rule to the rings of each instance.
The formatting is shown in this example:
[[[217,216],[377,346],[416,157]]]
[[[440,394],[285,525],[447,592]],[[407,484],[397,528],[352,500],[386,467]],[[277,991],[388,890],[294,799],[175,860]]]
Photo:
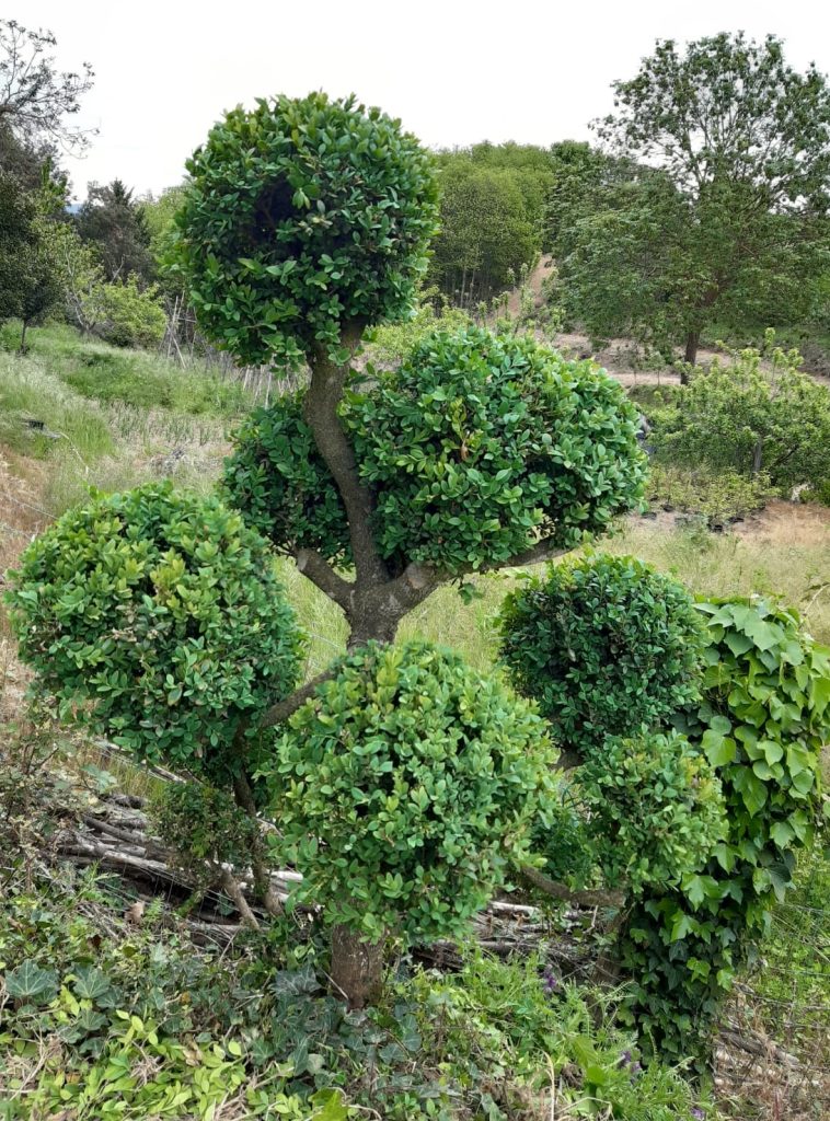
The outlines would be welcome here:
[[[540,534],[572,548],[640,493],[644,457],[620,388],[532,340],[436,332],[341,413],[395,571],[413,560],[450,575],[497,566]],[[278,548],[348,558],[340,497],[302,397],[242,427],[225,488]]]

